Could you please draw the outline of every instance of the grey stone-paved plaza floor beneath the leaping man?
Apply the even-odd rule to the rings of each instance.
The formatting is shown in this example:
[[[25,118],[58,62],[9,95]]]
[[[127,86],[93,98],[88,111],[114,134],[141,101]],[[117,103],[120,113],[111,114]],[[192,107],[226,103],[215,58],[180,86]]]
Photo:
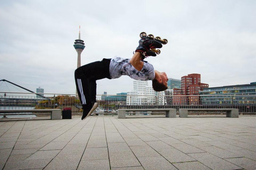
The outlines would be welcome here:
[[[256,117],[0,121],[0,169],[256,169]]]

